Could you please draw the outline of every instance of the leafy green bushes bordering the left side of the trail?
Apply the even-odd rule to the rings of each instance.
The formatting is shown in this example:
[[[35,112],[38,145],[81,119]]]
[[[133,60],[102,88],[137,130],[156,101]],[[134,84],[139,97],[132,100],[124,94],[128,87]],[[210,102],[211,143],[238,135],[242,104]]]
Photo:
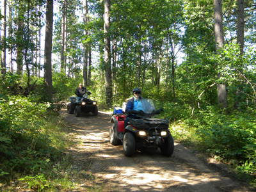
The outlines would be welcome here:
[[[49,113],[47,108],[49,104],[31,102],[26,97],[1,95],[2,182],[21,177],[20,181],[26,181],[28,188],[38,191],[55,188],[58,184],[52,182],[52,179],[60,173],[52,172],[52,166],[63,158],[61,152],[65,150],[67,139],[61,132],[61,119],[56,113]],[[64,182],[61,175],[58,177],[59,182]],[[65,183],[68,184],[68,181]]]

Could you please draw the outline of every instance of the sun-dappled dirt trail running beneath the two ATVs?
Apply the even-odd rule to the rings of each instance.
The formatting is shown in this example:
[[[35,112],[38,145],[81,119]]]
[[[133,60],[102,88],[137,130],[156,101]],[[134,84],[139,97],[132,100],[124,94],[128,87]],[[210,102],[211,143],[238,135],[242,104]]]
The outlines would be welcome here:
[[[90,172],[103,191],[250,191],[228,173],[203,163],[180,143],[175,143],[172,157],[161,156],[160,151],[125,157],[122,145],[109,143],[111,115],[107,113],[99,111],[98,116],[89,113],[77,118],[62,109],[60,115],[82,141],[72,148],[77,159],[74,167],[90,162]],[[88,182],[83,185],[88,186]]]

